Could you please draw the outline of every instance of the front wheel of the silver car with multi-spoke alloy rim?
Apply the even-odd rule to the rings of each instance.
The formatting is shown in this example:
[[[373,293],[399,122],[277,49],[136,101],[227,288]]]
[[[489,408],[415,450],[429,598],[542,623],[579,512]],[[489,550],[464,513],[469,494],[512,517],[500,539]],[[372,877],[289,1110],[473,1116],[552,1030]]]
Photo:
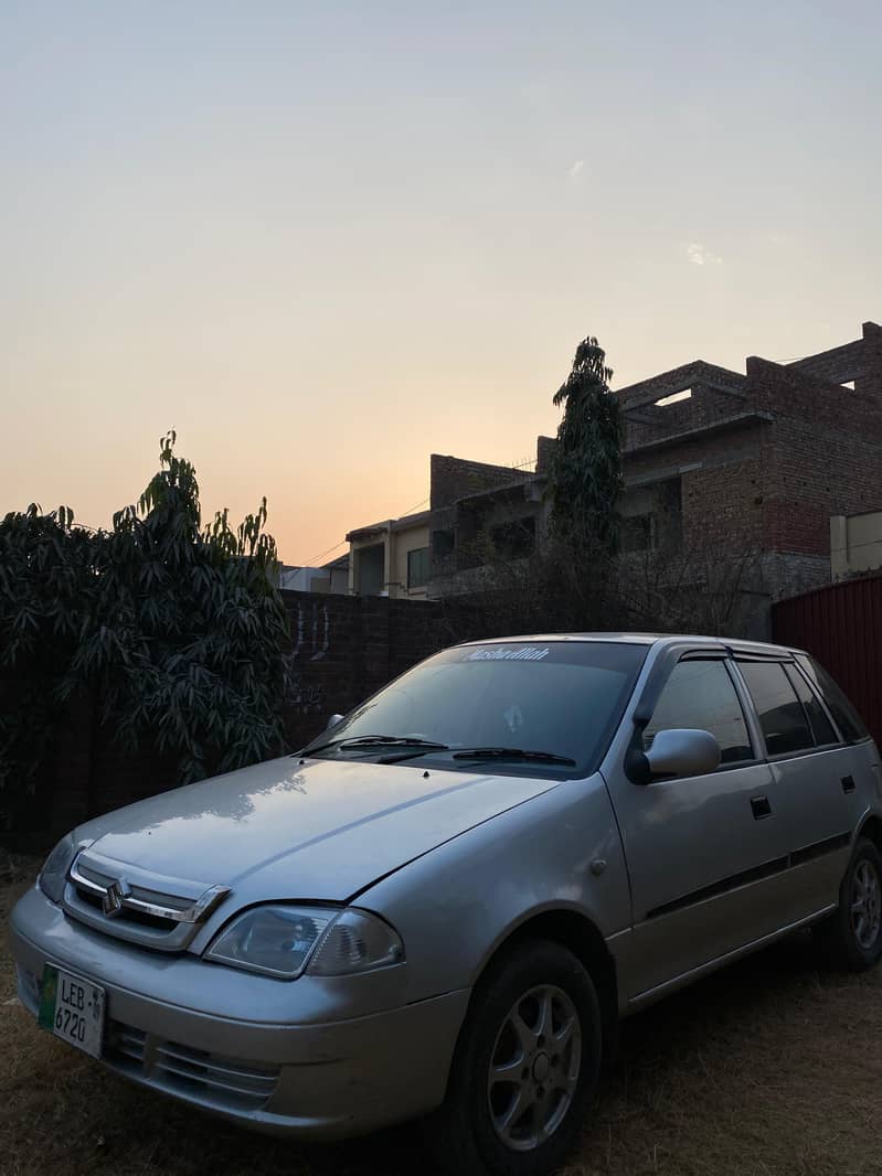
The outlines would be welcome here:
[[[475,989],[447,1098],[429,1121],[442,1176],[547,1176],[597,1085],[603,1034],[590,975],[567,948],[519,943]]]

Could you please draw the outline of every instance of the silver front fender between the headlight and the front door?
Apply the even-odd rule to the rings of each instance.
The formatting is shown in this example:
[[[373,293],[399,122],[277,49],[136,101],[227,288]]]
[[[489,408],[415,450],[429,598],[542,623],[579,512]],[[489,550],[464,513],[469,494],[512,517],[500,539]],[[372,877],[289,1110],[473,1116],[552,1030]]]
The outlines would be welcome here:
[[[408,998],[475,983],[497,948],[549,910],[608,938],[630,926],[628,875],[603,777],[569,780],[370,887],[405,941]]]

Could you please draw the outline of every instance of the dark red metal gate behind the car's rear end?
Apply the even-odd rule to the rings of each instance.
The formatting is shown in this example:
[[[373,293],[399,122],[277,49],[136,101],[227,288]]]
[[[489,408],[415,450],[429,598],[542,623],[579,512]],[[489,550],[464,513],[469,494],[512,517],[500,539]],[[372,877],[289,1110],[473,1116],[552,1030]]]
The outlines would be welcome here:
[[[882,575],[817,588],[771,609],[774,640],[833,674],[882,747]]]

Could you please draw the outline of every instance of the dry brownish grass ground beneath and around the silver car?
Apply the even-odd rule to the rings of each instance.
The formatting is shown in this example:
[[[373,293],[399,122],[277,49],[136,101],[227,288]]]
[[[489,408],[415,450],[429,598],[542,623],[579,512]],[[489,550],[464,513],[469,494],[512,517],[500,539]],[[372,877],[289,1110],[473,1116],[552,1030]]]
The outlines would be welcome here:
[[[14,1002],[0,887],[2,1176],[412,1176],[414,1130],[305,1149],[140,1090]],[[12,1002],[12,1003],[11,1003]],[[627,1022],[566,1176],[882,1174],[882,968],[818,973],[794,938]],[[463,1174],[467,1176],[467,1174]]]

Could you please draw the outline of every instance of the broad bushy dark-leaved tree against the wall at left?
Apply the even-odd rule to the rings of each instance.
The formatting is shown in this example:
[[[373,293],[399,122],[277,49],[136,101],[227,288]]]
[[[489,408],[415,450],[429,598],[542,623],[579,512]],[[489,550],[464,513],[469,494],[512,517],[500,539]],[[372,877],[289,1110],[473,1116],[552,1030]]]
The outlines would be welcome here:
[[[281,749],[288,626],[266,500],[236,530],[226,510],[203,527],[174,443],[109,530],[36,506],[0,522],[0,795],[33,782],[82,691],[99,727],[173,759],[181,783]]]

